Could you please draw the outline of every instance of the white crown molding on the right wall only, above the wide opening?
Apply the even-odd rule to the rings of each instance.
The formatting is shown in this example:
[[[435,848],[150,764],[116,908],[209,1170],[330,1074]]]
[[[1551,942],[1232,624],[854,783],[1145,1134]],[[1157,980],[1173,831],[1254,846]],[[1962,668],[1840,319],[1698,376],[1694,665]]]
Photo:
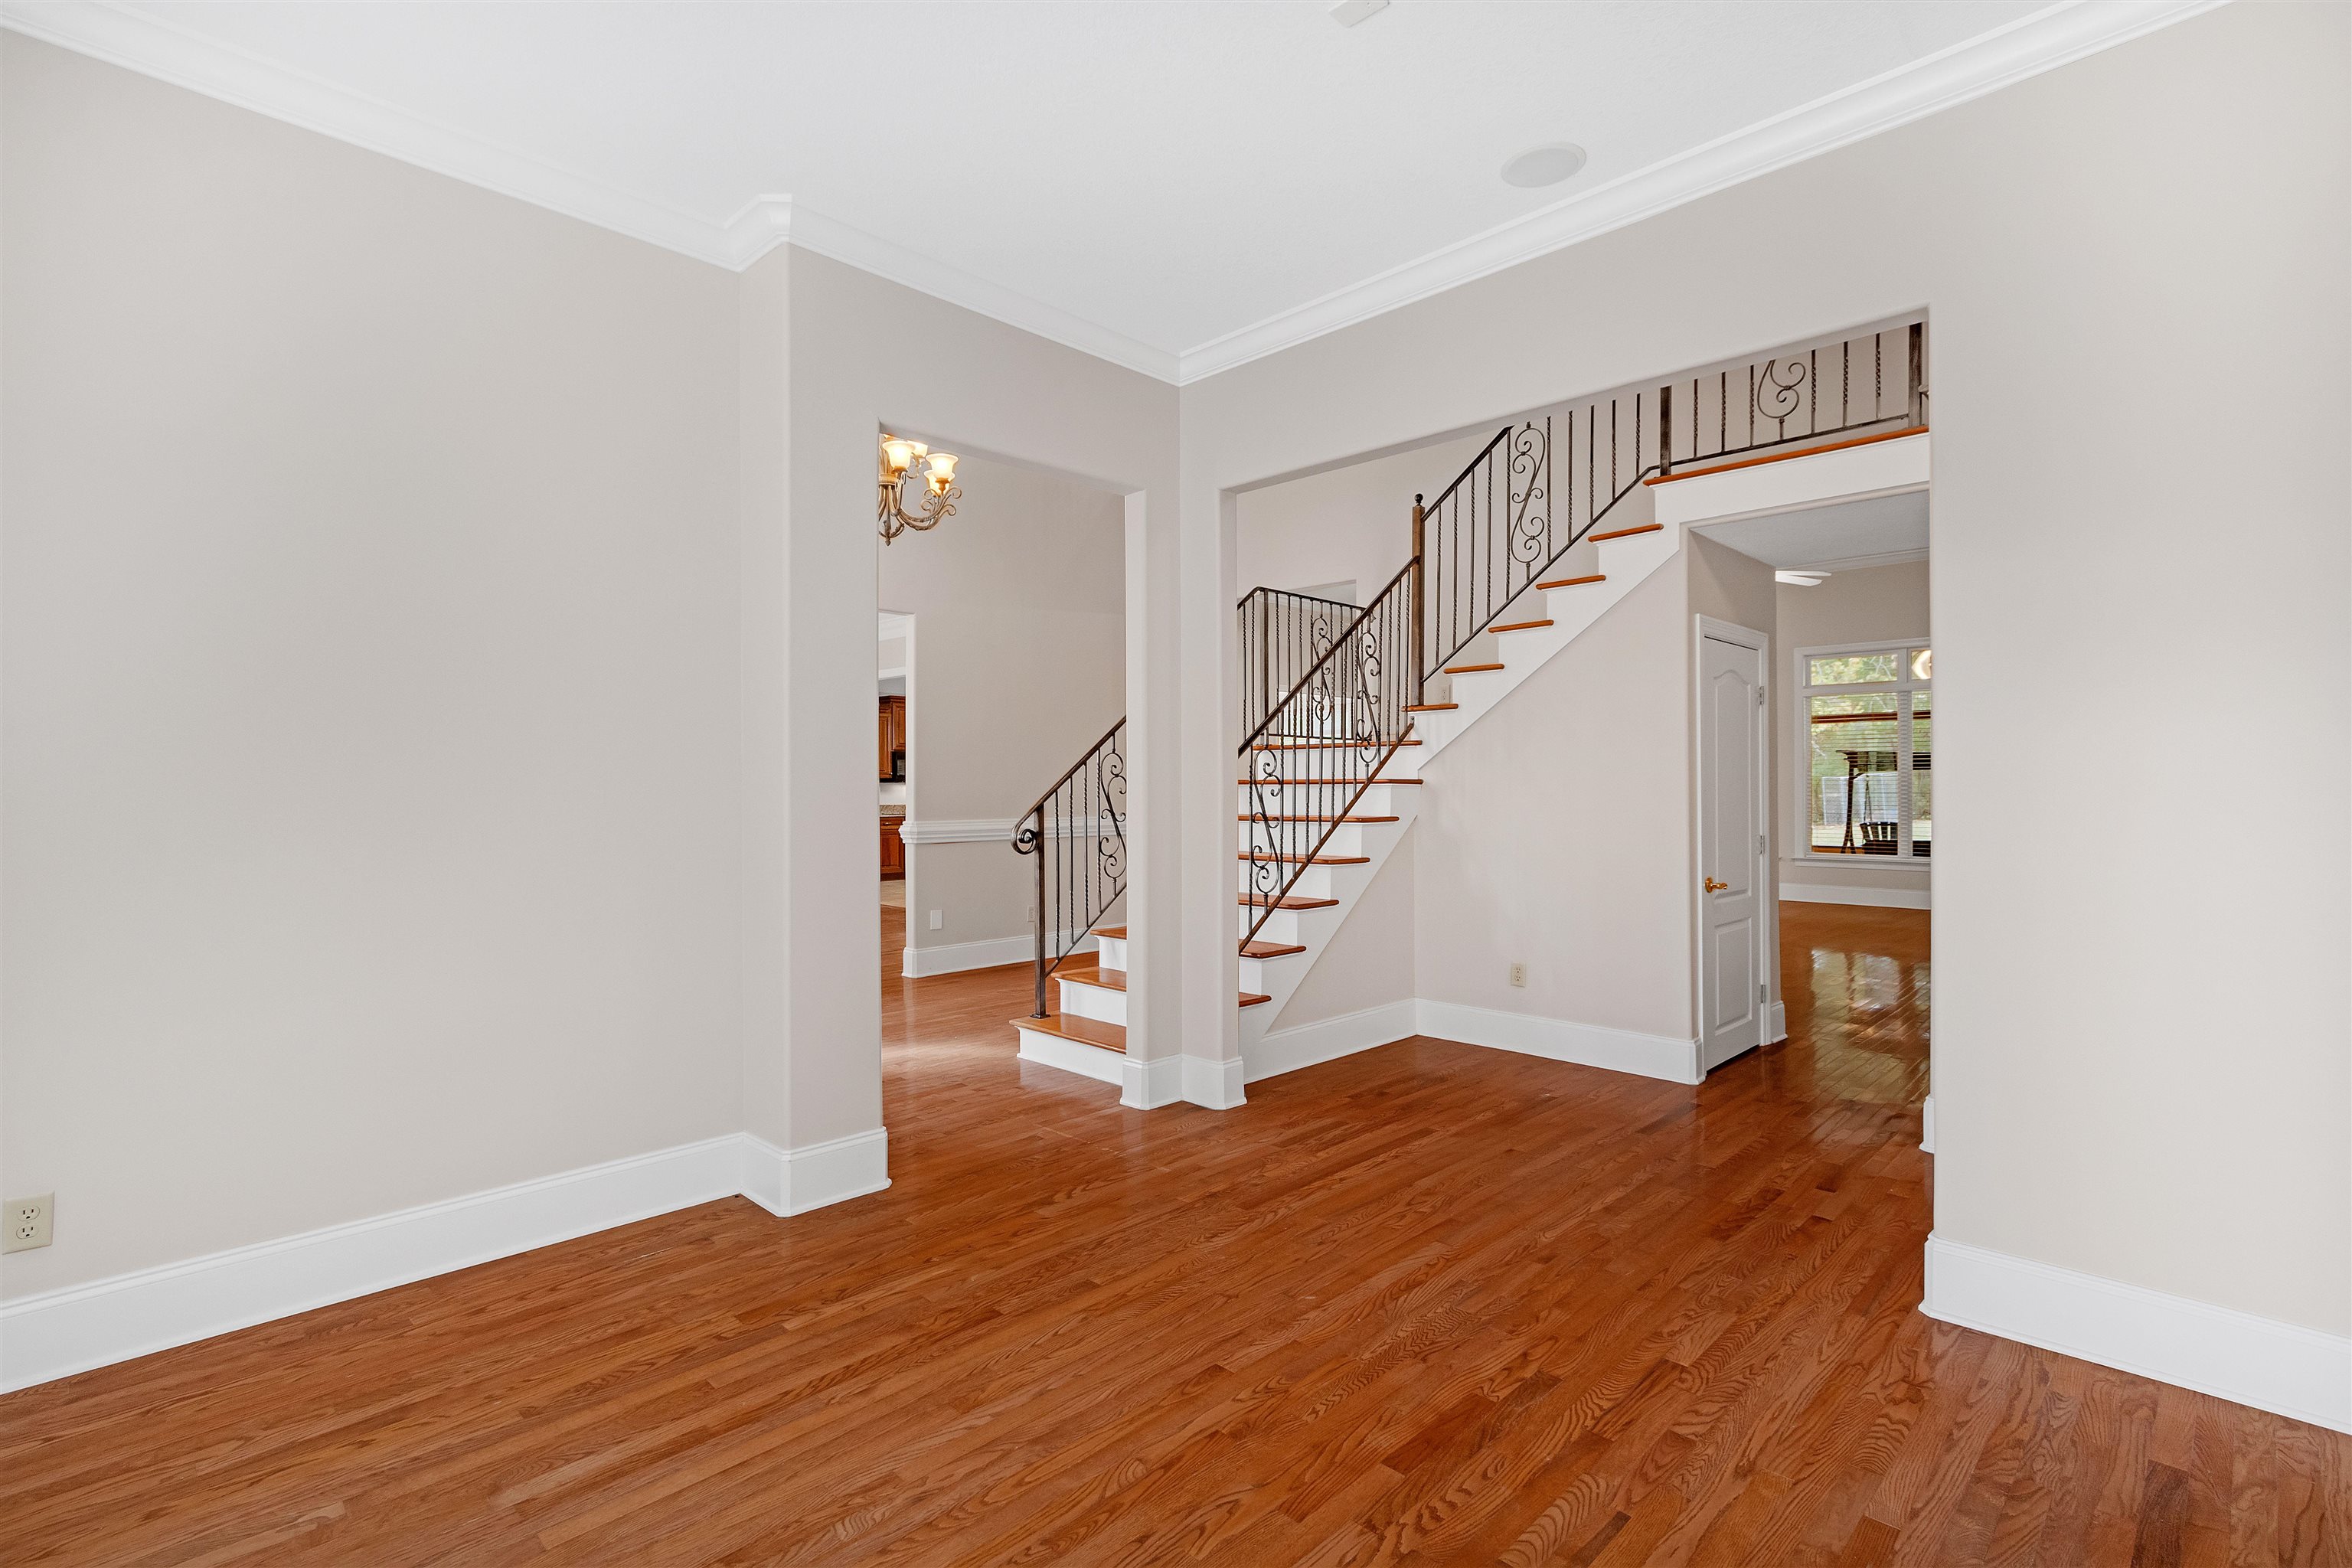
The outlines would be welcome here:
[[[1788,113],[1717,136],[1606,186],[1435,249],[1317,301],[1183,350],[1176,381],[1190,383],[1352,327],[1432,294],[1639,223],[1726,186],[1771,174],[1851,141],[1891,132],[1980,99],[2030,75],[2131,42],[2211,12],[2225,0],[2063,0],[2049,9],[1856,82]]]

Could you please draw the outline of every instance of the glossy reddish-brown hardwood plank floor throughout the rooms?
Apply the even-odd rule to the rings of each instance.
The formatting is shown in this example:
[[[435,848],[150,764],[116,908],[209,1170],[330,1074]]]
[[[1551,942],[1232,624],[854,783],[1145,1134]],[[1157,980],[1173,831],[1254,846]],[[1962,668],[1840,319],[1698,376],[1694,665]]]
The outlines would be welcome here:
[[[1421,1039],[1240,1112],[882,947],[889,1192],[14,1394],[0,1559],[2352,1561],[2352,1439],[1915,1309],[1924,914],[1785,905],[1698,1088]]]

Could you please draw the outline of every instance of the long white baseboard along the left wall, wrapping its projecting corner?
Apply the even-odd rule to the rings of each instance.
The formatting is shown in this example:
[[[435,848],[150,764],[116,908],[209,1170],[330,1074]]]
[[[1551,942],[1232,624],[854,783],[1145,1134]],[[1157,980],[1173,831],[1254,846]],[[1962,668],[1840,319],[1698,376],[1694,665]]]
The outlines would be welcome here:
[[[750,1152],[753,1143],[764,1154]],[[0,1392],[209,1340],[216,1333],[374,1295],[713,1199],[746,1194],[764,1208],[781,1211],[783,1197],[790,1194],[790,1213],[802,1213],[887,1187],[884,1161],[887,1143],[880,1128],[790,1154],[746,1133],[727,1133],[372,1220],[26,1295],[0,1305]],[[774,1164],[774,1182],[753,1194],[746,1178],[760,1164]]]

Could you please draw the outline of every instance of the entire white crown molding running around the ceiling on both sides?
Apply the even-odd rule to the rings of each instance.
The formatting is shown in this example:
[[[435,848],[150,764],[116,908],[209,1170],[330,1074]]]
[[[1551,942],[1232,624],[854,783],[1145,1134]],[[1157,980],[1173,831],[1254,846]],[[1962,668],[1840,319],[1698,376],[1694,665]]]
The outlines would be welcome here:
[[[729,270],[748,268],[779,244],[800,244],[1065,348],[1183,386],[1966,103],[2216,5],[2223,0],[2065,0],[1183,353],[1138,343],[856,230],[790,195],[753,197],[727,221],[677,212],[202,38],[153,12],[125,9],[115,0],[0,0],[0,26]]]

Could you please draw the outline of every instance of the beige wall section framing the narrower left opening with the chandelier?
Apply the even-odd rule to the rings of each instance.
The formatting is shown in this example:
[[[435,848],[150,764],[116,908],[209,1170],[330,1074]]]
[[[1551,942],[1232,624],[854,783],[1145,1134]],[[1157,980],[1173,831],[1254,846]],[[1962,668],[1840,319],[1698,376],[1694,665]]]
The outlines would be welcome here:
[[[1183,750],[1176,609],[1143,597],[1143,583],[1176,576],[1176,390],[797,247],[741,282],[746,360],[790,367],[788,397],[746,402],[743,435],[746,463],[774,475],[743,512],[746,1126],[804,1147],[882,1117],[868,776],[877,428],[948,435],[1124,496],[1129,811],[1138,837],[1169,853],[1157,877],[1167,912],[1150,898],[1127,910],[1129,1046],[1138,1060],[1174,1051],[1183,1020],[1162,976],[1174,980],[1181,961],[1176,832],[1150,823],[1171,804],[1171,790],[1155,797],[1155,776]],[[922,353],[875,353],[877,343]],[[917,614],[917,686],[922,639]],[[927,802],[915,811],[936,816]],[[1138,846],[1138,882],[1150,884],[1152,853],[1150,842]]]

